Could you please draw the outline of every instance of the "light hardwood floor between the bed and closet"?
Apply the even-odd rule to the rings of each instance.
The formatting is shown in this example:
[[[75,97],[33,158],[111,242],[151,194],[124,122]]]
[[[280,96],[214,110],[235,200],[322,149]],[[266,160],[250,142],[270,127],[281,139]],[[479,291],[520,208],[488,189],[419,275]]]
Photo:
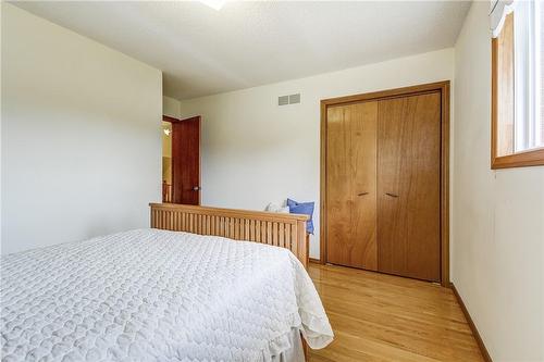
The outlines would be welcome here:
[[[483,361],[450,289],[343,266],[309,273],[335,334],[311,362]]]

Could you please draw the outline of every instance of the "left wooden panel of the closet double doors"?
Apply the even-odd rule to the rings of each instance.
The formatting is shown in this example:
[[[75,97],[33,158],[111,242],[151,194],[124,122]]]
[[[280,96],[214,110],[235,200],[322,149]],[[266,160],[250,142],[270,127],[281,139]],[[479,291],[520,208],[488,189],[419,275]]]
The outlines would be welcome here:
[[[326,261],[378,269],[378,102],[327,110]]]

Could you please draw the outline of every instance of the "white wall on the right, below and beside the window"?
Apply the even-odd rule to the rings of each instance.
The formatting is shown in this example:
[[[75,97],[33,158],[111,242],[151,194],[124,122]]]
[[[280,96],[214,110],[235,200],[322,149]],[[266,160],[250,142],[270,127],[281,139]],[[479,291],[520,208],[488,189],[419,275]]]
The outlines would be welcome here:
[[[453,282],[494,361],[544,361],[544,167],[490,170],[487,12],[456,45]]]

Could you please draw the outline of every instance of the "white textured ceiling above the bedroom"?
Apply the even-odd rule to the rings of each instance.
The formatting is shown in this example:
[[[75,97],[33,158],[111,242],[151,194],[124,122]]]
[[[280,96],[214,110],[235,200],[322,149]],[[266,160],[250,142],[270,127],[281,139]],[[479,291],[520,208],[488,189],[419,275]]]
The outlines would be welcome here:
[[[16,2],[211,95],[452,47],[470,2]]]

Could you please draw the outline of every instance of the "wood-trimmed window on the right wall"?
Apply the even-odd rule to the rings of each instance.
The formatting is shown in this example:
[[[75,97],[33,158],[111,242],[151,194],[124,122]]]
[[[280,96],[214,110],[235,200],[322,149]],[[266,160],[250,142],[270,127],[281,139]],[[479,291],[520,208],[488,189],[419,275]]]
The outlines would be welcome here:
[[[544,1],[495,1],[492,168],[544,164]]]

